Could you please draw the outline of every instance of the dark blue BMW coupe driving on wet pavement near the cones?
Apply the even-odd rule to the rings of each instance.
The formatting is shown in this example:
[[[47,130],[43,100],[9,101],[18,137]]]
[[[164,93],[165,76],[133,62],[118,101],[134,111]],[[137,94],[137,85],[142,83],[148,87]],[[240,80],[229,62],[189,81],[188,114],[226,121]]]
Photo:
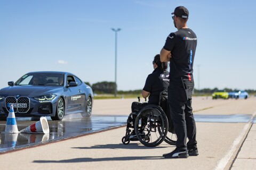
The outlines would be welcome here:
[[[0,90],[0,118],[6,120],[10,106],[15,116],[51,116],[62,120],[71,113],[92,114],[93,91],[68,72],[30,72]]]

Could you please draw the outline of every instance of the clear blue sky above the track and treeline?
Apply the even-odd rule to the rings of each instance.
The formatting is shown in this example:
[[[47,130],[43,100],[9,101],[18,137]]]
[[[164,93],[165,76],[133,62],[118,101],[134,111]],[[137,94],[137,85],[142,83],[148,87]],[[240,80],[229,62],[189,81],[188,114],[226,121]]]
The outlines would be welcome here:
[[[114,81],[111,28],[121,28],[117,89],[142,89],[153,57],[176,31],[171,13],[180,5],[198,38],[195,88],[256,89],[254,0],[0,0],[0,88],[30,71],[67,71],[91,84]]]

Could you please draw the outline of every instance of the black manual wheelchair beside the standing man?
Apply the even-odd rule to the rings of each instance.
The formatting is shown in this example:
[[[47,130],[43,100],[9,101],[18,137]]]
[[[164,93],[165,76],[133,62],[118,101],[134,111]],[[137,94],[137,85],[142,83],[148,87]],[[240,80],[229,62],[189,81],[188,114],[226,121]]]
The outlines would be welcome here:
[[[122,138],[123,144],[128,145],[130,141],[133,141],[133,139],[130,139],[133,129],[137,140],[146,147],[156,147],[163,141],[175,145],[177,137],[173,127],[169,130],[169,124],[173,125],[172,120],[170,116],[167,117],[164,110],[169,112],[167,93],[161,92],[159,105],[148,104],[140,109],[138,113],[130,113],[127,118],[125,136]]]

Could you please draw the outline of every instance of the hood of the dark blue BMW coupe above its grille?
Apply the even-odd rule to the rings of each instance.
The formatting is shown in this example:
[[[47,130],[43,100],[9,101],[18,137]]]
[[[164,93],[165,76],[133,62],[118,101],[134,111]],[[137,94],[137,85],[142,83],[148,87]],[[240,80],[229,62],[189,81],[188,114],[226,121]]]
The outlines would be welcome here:
[[[0,90],[0,95],[4,96],[40,96],[54,94],[63,87],[56,86],[10,86]]]

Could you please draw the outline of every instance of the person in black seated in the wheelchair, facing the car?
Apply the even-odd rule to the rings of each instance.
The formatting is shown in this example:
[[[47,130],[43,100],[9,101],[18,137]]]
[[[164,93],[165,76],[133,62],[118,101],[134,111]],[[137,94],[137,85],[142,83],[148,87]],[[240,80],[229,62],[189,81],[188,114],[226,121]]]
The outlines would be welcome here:
[[[140,103],[134,101],[132,103],[131,109],[132,113],[138,113],[143,107],[147,106],[148,104],[159,105],[159,95],[161,92],[165,92],[167,94],[167,89],[169,87],[169,72],[167,69],[167,62],[160,61],[160,55],[157,54],[153,60],[153,73],[149,74],[145,86],[141,91],[141,95],[143,98],[148,97],[148,103]],[[133,114],[131,117],[131,121],[134,125],[136,118],[136,114]],[[131,140],[138,140],[133,130],[130,134]]]

